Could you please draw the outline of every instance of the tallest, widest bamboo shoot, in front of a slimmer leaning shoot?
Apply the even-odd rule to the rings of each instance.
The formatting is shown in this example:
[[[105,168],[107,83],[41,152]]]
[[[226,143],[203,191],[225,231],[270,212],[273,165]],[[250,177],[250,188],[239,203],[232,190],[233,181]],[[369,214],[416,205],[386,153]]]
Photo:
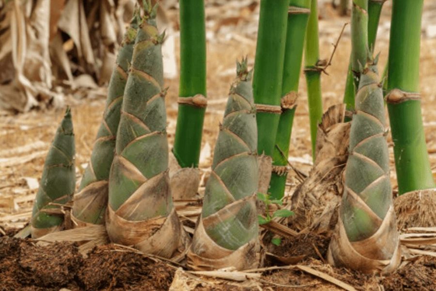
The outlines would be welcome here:
[[[167,170],[164,34],[156,28],[156,7],[144,3],[135,40],[109,175],[106,229],[112,242],[171,258],[184,248],[185,233]]]

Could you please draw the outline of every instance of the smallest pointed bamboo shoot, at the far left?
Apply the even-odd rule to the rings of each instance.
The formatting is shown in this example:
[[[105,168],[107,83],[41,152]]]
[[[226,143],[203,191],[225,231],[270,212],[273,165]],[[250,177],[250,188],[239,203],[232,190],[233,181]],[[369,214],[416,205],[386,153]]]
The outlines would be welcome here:
[[[71,201],[76,187],[74,155],[73,122],[70,108],[67,108],[44,163],[40,186],[33,204],[32,238],[62,230],[63,213],[59,205]]]

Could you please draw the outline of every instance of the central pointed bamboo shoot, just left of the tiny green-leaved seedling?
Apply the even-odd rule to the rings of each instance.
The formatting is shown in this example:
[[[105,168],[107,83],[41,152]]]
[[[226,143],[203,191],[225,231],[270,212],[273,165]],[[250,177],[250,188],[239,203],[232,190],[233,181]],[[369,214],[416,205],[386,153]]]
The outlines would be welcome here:
[[[207,180],[202,215],[187,254],[199,270],[259,263],[257,128],[247,60],[237,64]]]

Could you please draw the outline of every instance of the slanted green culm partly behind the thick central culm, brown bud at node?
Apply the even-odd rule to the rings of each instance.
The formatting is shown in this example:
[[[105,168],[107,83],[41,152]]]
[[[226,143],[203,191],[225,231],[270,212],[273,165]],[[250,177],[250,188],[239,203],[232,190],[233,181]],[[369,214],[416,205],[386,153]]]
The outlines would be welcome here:
[[[273,172],[269,192],[274,199],[281,199],[287,177],[289,143],[296,110],[298,84],[303,59],[304,39],[309,19],[311,0],[290,0],[286,30],[286,48],[281,83],[281,115],[273,152]]]

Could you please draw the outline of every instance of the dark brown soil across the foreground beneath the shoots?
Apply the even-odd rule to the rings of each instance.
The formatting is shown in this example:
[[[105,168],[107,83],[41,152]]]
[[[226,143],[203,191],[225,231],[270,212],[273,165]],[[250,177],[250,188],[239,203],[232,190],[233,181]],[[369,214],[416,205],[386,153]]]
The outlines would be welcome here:
[[[287,239],[272,250],[276,254],[306,255],[299,265],[330,275],[356,290],[436,290],[436,258],[420,257],[389,276],[360,274],[334,268],[319,259],[325,257],[322,238],[301,235]],[[77,244],[40,242],[0,237],[0,290],[169,290],[177,265],[148,258],[138,252],[109,244],[95,247],[86,258]],[[306,251],[304,251],[306,250]],[[325,280],[294,269],[266,270],[260,279],[243,283],[197,277],[195,290],[342,290]],[[261,288],[261,289],[259,289]],[[380,289],[384,288],[384,289]],[[176,289],[173,289],[176,290]]]

